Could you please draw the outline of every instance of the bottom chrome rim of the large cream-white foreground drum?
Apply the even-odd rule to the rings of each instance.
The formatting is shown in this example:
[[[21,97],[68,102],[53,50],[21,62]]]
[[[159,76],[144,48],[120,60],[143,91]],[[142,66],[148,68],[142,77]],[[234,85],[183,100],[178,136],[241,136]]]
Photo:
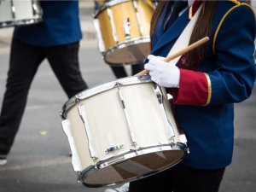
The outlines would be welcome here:
[[[130,160],[130,159],[133,158],[133,157],[137,157],[137,156],[143,155],[143,154],[144,154],[144,153],[143,153],[143,150],[147,150],[148,148],[150,148],[150,147],[141,148],[140,151],[142,151],[142,154],[139,154],[139,155],[137,155],[137,152],[135,152],[135,151],[126,153],[126,154],[133,154],[133,155],[129,156],[129,158],[127,158],[127,159],[124,159],[124,161],[125,161],[125,160]],[[154,172],[148,172],[148,174],[145,175],[145,176],[137,176],[137,177],[133,177],[133,178],[127,179],[127,180],[125,180],[125,181],[117,182],[117,183],[108,183],[108,184],[107,184],[107,183],[106,183],[106,184],[100,184],[100,183],[99,183],[99,184],[84,183],[83,180],[85,179],[85,177],[88,177],[88,176],[90,176],[91,173],[95,172],[96,167],[98,167],[98,166],[100,166],[100,165],[102,165],[102,164],[108,162],[108,160],[102,160],[102,161],[98,162],[98,163],[96,164],[96,166],[88,166],[88,167],[85,168],[82,172],[79,172],[78,179],[79,179],[79,181],[82,181],[83,184],[84,184],[86,187],[95,187],[95,188],[96,188],[96,187],[111,186],[111,185],[114,185],[114,184],[119,184],[119,183],[124,183],[124,182],[125,182],[125,183],[126,183],[126,182],[131,182],[131,181],[135,181],[135,180],[137,180],[137,179],[141,179],[141,178],[143,178],[143,177],[148,177],[148,176],[154,175],[155,173],[158,173],[158,172],[165,171],[166,169],[168,169],[168,168],[170,168],[170,167],[172,167],[172,166],[176,166],[179,162],[181,162],[181,161],[185,158],[185,156],[186,156],[186,154],[187,154],[187,153],[186,153],[186,148],[187,148],[187,146],[186,146],[185,143],[182,143],[182,145],[181,145],[181,144],[177,144],[177,143],[163,144],[163,145],[159,145],[159,146],[151,146],[151,148],[153,148],[154,150],[152,150],[150,153],[161,152],[161,151],[168,151],[168,150],[171,149],[172,151],[174,151],[174,150],[182,151],[182,152],[183,152],[183,155],[182,155],[182,157],[181,157],[180,159],[177,159],[177,161],[175,161],[174,163],[170,164],[169,166],[165,166],[165,167],[163,167],[163,168],[161,168],[161,169],[159,169],[159,170],[156,170],[156,171],[154,171]],[[164,148],[164,149],[163,149],[163,148]],[[159,150],[156,150],[156,149],[159,149]],[[150,153],[146,153],[146,154],[150,154]],[[119,154],[119,155],[115,156],[115,158],[118,159],[118,158],[121,157],[121,156],[124,156],[124,154]],[[111,165],[108,165],[108,166],[112,166],[112,165],[115,165],[115,164],[119,164],[120,162],[121,162],[121,161],[115,162],[115,163],[113,163],[113,164],[111,164]],[[107,166],[104,166],[104,167],[102,167],[102,168],[104,169],[105,167],[107,167]],[[100,169],[102,169],[102,168],[98,168],[98,170],[100,170]]]

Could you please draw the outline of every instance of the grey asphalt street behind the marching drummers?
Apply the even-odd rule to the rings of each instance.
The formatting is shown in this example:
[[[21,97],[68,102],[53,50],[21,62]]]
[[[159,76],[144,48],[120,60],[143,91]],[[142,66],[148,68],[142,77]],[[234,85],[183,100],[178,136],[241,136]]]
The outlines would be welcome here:
[[[114,80],[113,73],[102,61],[97,49],[91,13],[91,4],[81,7],[84,39],[79,61],[84,80],[90,87]],[[8,72],[11,32],[12,28],[0,29],[0,107]],[[76,181],[59,116],[64,102],[67,102],[67,96],[48,61],[44,61],[32,83],[8,164],[0,166],[0,192],[104,191],[105,188],[87,188]],[[220,192],[256,191],[255,107],[256,88],[247,101],[236,104],[234,158],[224,174]]]

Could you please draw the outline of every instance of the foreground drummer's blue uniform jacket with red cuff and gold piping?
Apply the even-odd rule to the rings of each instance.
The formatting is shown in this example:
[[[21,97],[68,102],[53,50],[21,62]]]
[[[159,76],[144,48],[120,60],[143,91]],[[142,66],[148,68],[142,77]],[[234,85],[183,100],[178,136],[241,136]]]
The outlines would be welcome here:
[[[164,14],[160,15],[159,24]],[[152,55],[166,56],[189,22],[189,9],[166,32],[157,26]],[[220,1],[203,61],[195,70],[180,69],[174,91],[177,122],[190,153],[183,164],[199,169],[228,166],[234,144],[234,104],[247,99],[255,80],[255,15],[247,4]],[[242,129],[242,127],[241,127]]]

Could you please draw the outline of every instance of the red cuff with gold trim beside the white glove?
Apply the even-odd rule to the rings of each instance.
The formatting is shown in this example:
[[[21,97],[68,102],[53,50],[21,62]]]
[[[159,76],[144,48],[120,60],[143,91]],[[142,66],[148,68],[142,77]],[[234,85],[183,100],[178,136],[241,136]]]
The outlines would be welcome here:
[[[212,95],[210,84],[206,73],[180,69],[179,88],[172,90],[172,101],[179,105],[207,105]]]

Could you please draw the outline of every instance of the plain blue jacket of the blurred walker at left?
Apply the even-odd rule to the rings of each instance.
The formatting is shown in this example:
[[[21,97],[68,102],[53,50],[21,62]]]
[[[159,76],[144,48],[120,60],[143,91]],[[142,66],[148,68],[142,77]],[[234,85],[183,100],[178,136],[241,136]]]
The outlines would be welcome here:
[[[40,47],[78,42],[82,38],[79,1],[40,1],[43,20],[29,26],[16,26],[14,37]]]

